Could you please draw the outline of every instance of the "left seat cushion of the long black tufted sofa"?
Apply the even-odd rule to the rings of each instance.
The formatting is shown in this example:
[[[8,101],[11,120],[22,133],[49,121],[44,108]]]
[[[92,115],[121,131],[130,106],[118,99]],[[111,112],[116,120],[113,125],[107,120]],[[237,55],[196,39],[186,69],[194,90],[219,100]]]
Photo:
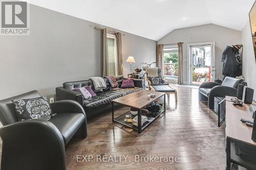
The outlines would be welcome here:
[[[83,101],[85,111],[95,110],[102,106],[111,104],[112,100],[120,98],[120,94],[111,92],[99,92],[95,98],[89,98]]]

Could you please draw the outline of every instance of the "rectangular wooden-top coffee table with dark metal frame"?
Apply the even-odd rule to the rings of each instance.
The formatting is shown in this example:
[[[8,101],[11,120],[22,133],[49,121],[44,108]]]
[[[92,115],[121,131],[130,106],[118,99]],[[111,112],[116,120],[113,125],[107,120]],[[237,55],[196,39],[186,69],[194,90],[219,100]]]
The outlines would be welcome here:
[[[147,99],[147,93],[155,93],[156,96],[151,99]],[[141,113],[142,109],[144,109],[146,106],[150,105],[151,103],[155,102],[159,98],[164,96],[164,105],[162,109],[157,112],[155,117],[151,118],[150,122],[146,122],[141,126]],[[130,111],[118,116],[114,117],[114,103],[132,107],[135,109],[138,109],[138,127],[134,126],[132,123],[125,123],[124,118],[125,115],[131,114]],[[112,101],[112,122],[113,123],[119,123],[126,127],[132,128],[134,130],[137,130],[138,133],[141,133],[144,129],[146,129],[150,124],[152,124],[162,113],[165,113],[165,93],[164,92],[158,92],[158,91],[150,91],[150,90],[139,90],[137,92],[124,95],[118,99],[115,99]]]

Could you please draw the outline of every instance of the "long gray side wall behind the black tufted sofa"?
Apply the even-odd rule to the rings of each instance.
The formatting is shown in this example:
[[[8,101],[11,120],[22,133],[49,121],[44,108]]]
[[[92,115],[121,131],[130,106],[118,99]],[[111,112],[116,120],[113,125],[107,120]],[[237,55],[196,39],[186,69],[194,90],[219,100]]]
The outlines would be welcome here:
[[[30,36],[0,36],[0,99],[34,89],[54,94],[63,82],[101,76],[102,36],[94,27],[102,26],[34,5],[30,9]],[[130,55],[134,67],[156,61],[156,41],[122,33],[124,75]]]

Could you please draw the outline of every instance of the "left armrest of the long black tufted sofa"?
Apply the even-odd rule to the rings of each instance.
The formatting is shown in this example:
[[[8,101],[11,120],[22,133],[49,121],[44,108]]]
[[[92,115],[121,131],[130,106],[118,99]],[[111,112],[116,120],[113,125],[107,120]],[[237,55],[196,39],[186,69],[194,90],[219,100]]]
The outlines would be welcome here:
[[[78,102],[81,106],[83,106],[82,93],[64,87],[56,87],[56,100],[72,100]]]

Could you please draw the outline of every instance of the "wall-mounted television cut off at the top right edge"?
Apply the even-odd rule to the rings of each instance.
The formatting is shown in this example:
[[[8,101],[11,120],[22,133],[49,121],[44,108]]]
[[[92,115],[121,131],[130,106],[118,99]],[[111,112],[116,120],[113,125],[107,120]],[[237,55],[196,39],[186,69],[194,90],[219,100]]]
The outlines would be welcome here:
[[[256,4],[254,2],[250,13],[250,24],[251,24],[251,34],[252,34],[252,42],[253,42],[253,48],[254,48],[254,58],[256,62]]]

